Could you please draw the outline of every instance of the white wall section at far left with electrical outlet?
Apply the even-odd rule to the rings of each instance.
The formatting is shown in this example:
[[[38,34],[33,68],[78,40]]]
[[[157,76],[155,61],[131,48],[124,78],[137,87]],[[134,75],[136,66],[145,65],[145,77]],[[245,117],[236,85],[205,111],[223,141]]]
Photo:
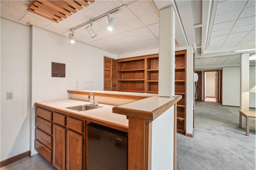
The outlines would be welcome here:
[[[1,18],[1,161],[29,151],[29,37],[28,26]]]

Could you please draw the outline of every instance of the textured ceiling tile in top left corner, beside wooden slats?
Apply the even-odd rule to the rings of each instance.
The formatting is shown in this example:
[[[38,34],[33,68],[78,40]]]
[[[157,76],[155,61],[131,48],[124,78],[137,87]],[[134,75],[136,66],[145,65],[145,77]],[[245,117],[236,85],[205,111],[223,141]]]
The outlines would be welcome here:
[[[10,1],[10,0],[1,0],[1,5],[5,4],[12,8],[15,8],[16,10],[27,12],[27,9],[34,3],[35,1]],[[1,9],[2,10],[2,9]]]

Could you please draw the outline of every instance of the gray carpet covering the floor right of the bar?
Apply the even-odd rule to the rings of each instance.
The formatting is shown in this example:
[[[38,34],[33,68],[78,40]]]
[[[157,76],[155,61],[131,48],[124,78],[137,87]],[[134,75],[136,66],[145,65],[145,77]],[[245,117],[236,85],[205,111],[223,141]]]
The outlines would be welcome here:
[[[194,137],[177,134],[177,169],[255,170],[255,121],[248,137],[238,128],[239,108],[200,103]]]

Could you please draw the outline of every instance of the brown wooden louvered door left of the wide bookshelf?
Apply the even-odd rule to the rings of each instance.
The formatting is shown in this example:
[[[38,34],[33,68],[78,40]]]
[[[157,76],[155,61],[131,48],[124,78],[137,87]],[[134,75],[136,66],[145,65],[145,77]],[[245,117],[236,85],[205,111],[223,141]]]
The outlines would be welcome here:
[[[104,57],[104,90],[116,91],[117,90],[117,60]]]

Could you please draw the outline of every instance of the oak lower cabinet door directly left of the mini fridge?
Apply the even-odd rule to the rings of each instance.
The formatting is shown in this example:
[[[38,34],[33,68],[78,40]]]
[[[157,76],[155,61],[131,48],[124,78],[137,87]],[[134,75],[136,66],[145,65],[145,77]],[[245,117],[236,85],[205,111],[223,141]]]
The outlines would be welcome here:
[[[66,169],[82,169],[83,136],[67,130]]]

